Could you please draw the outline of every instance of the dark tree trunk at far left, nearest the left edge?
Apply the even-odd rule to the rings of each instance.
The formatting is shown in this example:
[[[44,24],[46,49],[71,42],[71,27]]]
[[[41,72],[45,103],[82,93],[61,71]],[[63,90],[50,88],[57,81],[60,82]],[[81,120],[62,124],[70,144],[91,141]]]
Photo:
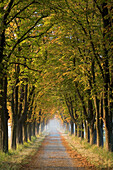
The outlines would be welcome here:
[[[8,151],[8,118],[5,118],[4,122],[4,113],[7,114],[8,112],[3,110],[4,108],[4,89],[3,89],[3,71],[6,69],[4,68],[4,65],[2,64],[2,61],[5,57],[4,55],[4,48],[5,48],[5,30],[7,27],[7,19],[9,17],[9,14],[12,9],[12,5],[14,3],[14,0],[11,0],[7,6],[7,10],[4,10],[5,5],[3,4],[3,1],[0,2],[0,150],[4,150],[5,152]],[[3,127],[4,122],[4,127]],[[5,128],[5,129],[3,129]],[[4,134],[3,130],[6,134]],[[3,140],[5,143],[3,144]]]

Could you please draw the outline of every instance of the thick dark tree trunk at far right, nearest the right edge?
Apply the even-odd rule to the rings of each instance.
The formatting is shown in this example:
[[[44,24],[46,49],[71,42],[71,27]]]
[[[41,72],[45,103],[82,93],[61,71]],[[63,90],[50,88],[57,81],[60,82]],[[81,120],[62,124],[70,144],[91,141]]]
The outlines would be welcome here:
[[[108,13],[108,4],[106,2],[102,3],[102,18],[103,18],[103,68],[104,68],[104,123],[105,123],[105,137],[106,137],[106,150],[111,151],[110,146],[110,113],[109,113],[109,98],[108,91],[110,85],[110,75],[109,75],[109,33],[111,29],[110,18]]]

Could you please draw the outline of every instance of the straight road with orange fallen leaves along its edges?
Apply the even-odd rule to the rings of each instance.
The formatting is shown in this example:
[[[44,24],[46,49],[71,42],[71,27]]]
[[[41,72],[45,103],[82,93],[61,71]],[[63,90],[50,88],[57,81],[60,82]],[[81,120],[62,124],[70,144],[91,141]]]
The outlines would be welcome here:
[[[61,134],[50,133],[42,143],[39,151],[31,157],[28,164],[22,166],[25,170],[85,170],[94,169],[84,158],[72,151]]]

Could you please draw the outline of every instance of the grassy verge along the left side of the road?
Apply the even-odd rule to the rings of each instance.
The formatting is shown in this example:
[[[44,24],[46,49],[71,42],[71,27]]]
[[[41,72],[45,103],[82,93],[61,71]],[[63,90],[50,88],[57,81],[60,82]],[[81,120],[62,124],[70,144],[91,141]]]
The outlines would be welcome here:
[[[17,150],[9,149],[8,153],[0,152],[0,170],[18,170],[21,164],[25,164],[33,156],[45,136],[32,137],[31,141],[23,145],[17,145]]]

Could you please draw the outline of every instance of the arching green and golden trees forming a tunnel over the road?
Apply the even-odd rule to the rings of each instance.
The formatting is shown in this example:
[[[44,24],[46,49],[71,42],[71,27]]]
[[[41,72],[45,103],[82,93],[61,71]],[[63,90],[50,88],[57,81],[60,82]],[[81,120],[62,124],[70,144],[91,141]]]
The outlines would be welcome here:
[[[1,150],[8,150],[8,110],[12,148],[17,136],[23,141],[22,126],[27,140],[27,126],[31,134],[32,122],[57,113],[89,128],[90,144],[96,127],[98,146],[104,124],[106,149],[113,150],[112,14],[111,0],[0,2]]]

